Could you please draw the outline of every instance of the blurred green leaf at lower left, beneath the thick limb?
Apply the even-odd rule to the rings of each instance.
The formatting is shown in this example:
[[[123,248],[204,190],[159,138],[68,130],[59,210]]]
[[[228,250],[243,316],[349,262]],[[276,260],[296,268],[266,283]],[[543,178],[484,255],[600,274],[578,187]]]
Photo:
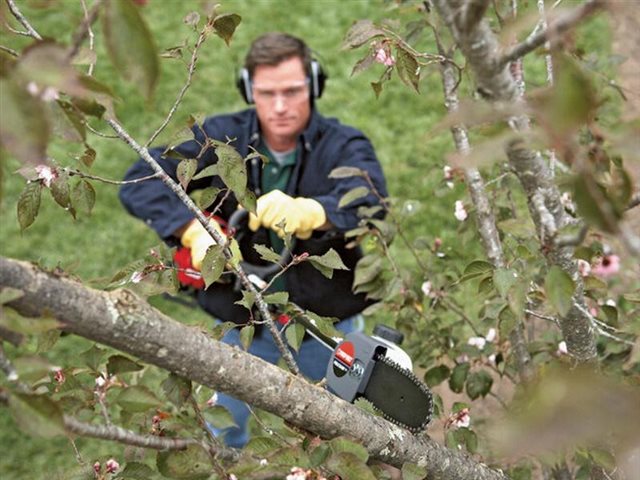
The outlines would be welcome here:
[[[9,411],[29,435],[51,438],[65,434],[62,410],[48,397],[13,394],[9,396]]]

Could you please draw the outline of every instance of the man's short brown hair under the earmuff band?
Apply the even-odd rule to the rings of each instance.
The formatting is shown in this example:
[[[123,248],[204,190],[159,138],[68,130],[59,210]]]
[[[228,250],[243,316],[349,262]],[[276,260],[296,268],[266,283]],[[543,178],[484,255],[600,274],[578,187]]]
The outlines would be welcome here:
[[[251,44],[244,66],[249,71],[249,75],[253,77],[258,65],[276,66],[293,57],[302,60],[304,71],[310,75],[311,50],[302,40],[286,33],[265,33]]]

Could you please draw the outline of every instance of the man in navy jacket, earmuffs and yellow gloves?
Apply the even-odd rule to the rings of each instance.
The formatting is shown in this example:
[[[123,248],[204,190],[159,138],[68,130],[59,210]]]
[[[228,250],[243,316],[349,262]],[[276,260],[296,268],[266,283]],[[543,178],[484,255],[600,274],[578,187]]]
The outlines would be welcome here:
[[[266,165],[258,158],[248,165],[249,186],[258,201],[256,215],[249,220],[251,234],[240,242],[242,255],[251,263],[259,262],[252,248],[255,244],[280,251],[285,232],[295,238],[294,254],[323,255],[333,248],[348,271],[337,270],[332,279],[327,279],[308,262],[302,262],[289,268],[274,288],[286,290],[290,301],[302,308],[336,317],[336,327],[347,333],[356,328],[367,302],[362,294],[352,292],[353,272],[361,253],[357,248],[346,248],[343,233],[358,225],[359,207],[373,206],[378,200],[369,194],[338,207],[345,193],[367,183],[359,176],[330,179],[329,173],[346,166],[365,170],[378,193],[386,196],[387,192],[369,140],[358,130],[316,111],[315,101],[322,95],[324,81],[322,69],[302,40],[282,33],[265,34],[251,45],[238,82],[241,94],[247,102],[255,103],[255,108],[207,118],[201,126],[194,127],[194,140],[176,151],[185,158],[197,158],[198,168],[202,169],[217,161],[212,148],[201,151],[206,138],[233,139],[231,145],[243,158],[254,148],[269,159]],[[161,148],[150,151],[175,178],[178,162],[163,157],[162,152]],[[140,160],[126,179],[150,173]],[[191,182],[189,190],[212,185],[224,187],[214,176]],[[238,202],[233,196],[223,197],[220,195],[211,208],[217,207],[216,215],[228,220]],[[214,242],[193,213],[160,180],[125,184],[120,198],[131,214],[144,220],[167,243],[189,247],[194,267],[201,266],[207,248]],[[250,321],[249,312],[235,303],[241,297],[233,282],[217,282],[197,291],[196,296],[202,308],[218,320],[239,325]],[[240,345],[238,332],[239,329],[231,330],[223,341]],[[271,363],[280,357],[266,328],[256,331],[249,352]],[[307,339],[294,358],[306,376],[319,380],[329,356],[325,347]],[[219,403],[232,412],[239,426],[223,432],[225,442],[232,447],[244,446],[248,440],[247,407],[226,395],[219,396]]]

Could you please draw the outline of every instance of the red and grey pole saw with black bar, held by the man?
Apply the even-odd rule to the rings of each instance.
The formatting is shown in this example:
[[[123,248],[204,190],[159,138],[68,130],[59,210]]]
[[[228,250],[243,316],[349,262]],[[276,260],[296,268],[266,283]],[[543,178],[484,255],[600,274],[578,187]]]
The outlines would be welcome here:
[[[226,225],[226,233],[239,241],[248,228],[247,220],[248,212],[237,210]],[[285,248],[279,261],[273,264],[255,265],[243,260],[240,265],[249,280],[263,289],[290,258],[291,253]],[[180,267],[179,271],[187,272],[190,286],[204,288],[204,282],[198,278],[199,272],[190,266],[188,249],[178,248],[174,261]],[[187,283],[180,275],[178,277]],[[236,286],[240,288],[239,280]],[[400,332],[376,325],[371,336],[356,331],[346,334],[344,339],[336,339],[323,333],[302,308],[291,302],[289,305],[293,315],[277,315],[278,323],[283,326],[281,334],[298,322],[311,337],[331,351],[325,374],[329,391],[350,403],[364,398],[385,419],[413,433],[427,427],[433,414],[433,397],[429,388],[413,373],[411,358],[400,347],[404,338]]]

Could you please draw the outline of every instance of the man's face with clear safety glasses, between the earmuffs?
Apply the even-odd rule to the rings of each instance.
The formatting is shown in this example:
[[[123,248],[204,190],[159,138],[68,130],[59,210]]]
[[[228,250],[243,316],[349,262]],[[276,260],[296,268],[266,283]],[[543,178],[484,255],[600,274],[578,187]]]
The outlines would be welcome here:
[[[309,82],[302,60],[258,65],[253,72],[253,98],[262,133],[276,150],[293,148],[311,116]]]

